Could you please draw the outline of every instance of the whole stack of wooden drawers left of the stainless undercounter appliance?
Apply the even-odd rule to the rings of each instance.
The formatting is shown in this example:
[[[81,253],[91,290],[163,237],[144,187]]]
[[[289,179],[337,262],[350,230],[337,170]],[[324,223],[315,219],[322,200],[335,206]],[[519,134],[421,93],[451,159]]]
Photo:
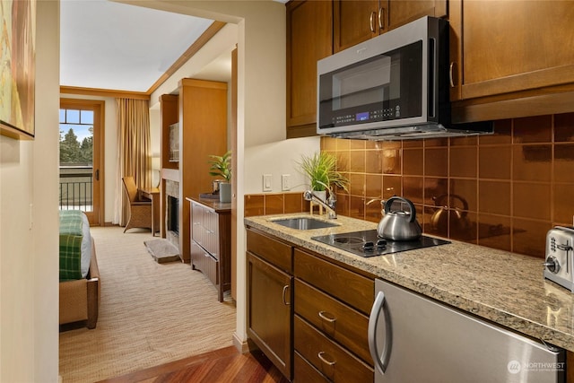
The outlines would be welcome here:
[[[374,300],[374,277],[354,272],[296,248],[295,353],[318,371],[324,381],[372,382],[373,361],[369,352],[368,327]],[[311,373],[302,362],[295,370]]]

